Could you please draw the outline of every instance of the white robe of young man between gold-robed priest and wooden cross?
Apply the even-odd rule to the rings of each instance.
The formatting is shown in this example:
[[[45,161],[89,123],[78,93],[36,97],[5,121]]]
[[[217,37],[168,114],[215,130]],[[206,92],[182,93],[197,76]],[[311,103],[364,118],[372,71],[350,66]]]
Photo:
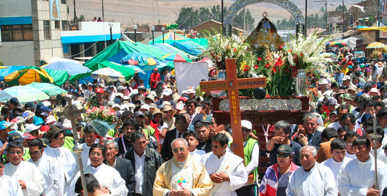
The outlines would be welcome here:
[[[236,156],[230,152],[226,152],[225,155],[220,158],[216,156],[213,152],[209,152],[203,155],[201,162],[206,167],[207,172],[211,175],[218,171],[218,168],[221,166],[223,160],[227,156]],[[248,173],[243,162],[239,163],[237,167],[229,174],[230,182],[222,182],[218,190],[215,192],[214,196],[236,196],[237,193],[234,191],[247,182]]]

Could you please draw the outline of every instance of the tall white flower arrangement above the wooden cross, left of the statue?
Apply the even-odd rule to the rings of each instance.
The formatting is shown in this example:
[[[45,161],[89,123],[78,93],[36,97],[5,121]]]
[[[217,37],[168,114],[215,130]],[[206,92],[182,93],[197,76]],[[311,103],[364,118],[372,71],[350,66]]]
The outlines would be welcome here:
[[[208,40],[208,48],[202,52],[202,56],[207,56],[218,69],[226,69],[226,58],[235,58],[237,62],[241,61],[249,48],[249,45],[243,43],[238,37],[225,37],[218,32],[215,36],[207,31],[205,37]]]

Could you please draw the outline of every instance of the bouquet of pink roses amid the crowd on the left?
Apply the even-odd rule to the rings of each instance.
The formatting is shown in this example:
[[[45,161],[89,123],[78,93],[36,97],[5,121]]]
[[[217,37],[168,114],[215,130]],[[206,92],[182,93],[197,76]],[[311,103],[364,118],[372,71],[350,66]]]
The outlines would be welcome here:
[[[107,122],[108,124],[113,124],[119,119],[116,117],[116,112],[113,108],[105,108],[104,106],[100,107],[91,107],[87,109],[86,121],[92,121],[94,119]]]

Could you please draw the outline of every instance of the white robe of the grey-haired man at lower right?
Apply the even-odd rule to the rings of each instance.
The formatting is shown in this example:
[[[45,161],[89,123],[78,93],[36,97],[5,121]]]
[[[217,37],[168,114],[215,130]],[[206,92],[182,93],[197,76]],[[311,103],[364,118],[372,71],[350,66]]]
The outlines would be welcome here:
[[[335,177],[327,166],[318,162],[315,163],[315,166],[309,172],[300,167],[290,176],[286,195],[337,196]]]

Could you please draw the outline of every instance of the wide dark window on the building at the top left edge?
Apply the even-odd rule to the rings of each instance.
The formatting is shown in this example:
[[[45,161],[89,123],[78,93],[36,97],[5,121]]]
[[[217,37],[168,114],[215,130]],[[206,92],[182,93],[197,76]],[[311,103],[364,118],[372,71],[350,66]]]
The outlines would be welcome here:
[[[3,25],[2,26],[2,41],[32,41],[32,25]]]

